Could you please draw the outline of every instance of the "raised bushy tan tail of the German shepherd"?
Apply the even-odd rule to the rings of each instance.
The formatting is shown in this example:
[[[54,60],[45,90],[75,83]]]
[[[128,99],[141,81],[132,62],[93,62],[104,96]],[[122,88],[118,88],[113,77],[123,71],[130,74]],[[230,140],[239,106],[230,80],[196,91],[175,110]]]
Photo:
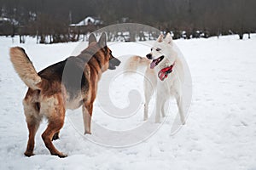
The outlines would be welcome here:
[[[25,50],[20,47],[10,48],[9,55],[15,71],[18,73],[21,80],[25,82],[26,86],[34,90],[40,89],[38,83],[42,82],[42,79],[38,76]]]

